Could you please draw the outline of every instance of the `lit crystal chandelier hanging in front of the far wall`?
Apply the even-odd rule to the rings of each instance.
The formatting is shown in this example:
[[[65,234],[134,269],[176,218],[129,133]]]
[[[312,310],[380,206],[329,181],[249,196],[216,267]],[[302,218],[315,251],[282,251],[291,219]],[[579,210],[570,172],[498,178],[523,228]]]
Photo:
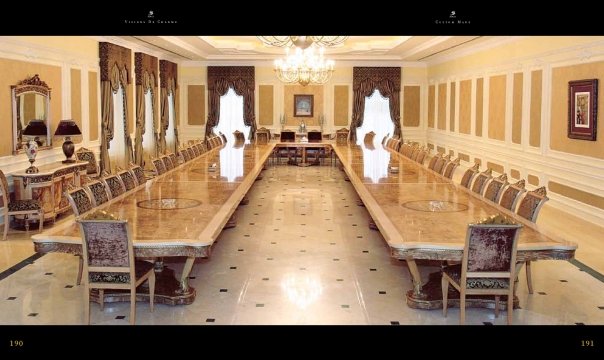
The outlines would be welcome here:
[[[300,83],[302,86],[310,83],[325,84],[333,74],[334,65],[333,60],[325,60],[323,57],[323,48],[318,55],[314,46],[306,49],[296,47],[295,53],[291,55],[290,48],[286,48],[285,59],[275,60],[275,72],[284,83]]]

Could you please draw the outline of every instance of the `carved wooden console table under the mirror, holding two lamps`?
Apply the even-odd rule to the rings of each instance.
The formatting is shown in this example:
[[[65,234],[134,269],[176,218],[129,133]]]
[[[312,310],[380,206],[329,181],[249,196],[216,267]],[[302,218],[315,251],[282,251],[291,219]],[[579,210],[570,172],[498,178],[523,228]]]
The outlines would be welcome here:
[[[25,170],[13,173],[15,199],[40,200],[44,219],[54,221],[57,215],[70,209],[63,193],[69,184],[80,186],[80,176],[86,175],[87,165],[86,161],[58,162],[39,166],[37,174],[27,174]]]

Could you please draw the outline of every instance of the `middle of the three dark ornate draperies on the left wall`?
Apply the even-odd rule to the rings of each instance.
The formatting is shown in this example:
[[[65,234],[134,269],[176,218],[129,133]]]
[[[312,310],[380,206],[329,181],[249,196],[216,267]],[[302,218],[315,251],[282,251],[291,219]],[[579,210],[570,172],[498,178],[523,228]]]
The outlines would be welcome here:
[[[157,115],[155,111],[155,94],[157,94],[157,58],[144,53],[134,53],[134,73],[136,75],[136,137],[134,139],[134,162],[143,166],[144,149],[143,135],[145,131],[153,131],[155,139],[155,154],[157,157],[159,144],[157,142]],[[153,108],[153,129],[145,129],[145,93],[151,91]]]

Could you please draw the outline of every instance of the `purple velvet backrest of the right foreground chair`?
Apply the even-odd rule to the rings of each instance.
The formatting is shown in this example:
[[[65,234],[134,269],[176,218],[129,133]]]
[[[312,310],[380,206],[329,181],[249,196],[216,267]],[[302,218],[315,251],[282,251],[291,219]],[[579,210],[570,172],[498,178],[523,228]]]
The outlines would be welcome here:
[[[518,234],[522,224],[470,224],[462,260],[461,283],[472,278],[508,278],[514,286]]]

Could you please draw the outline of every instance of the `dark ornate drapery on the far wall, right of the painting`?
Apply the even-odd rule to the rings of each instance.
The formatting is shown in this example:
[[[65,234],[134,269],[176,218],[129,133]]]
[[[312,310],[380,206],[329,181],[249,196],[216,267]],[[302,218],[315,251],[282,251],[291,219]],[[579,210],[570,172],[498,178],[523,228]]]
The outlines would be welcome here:
[[[390,118],[394,123],[394,136],[401,136],[401,68],[354,67],[352,69],[352,122],[350,140],[356,142],[357,128],[363,125],[365,98],[378,89],[390,102]]]

